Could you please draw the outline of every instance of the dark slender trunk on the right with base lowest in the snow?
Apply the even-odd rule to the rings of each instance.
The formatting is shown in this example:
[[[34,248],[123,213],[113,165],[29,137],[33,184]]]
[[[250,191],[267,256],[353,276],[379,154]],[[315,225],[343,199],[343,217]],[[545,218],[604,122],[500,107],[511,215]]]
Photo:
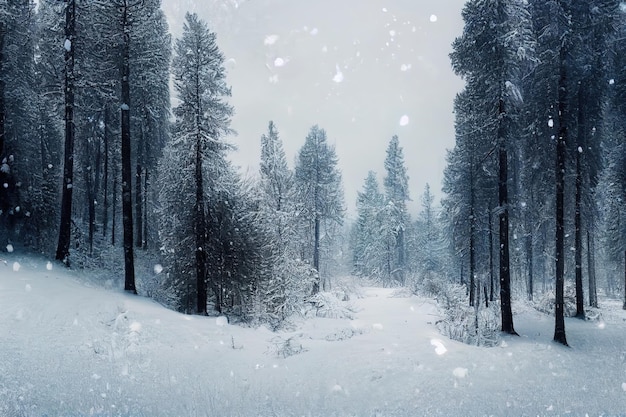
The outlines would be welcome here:
[[[565,312],[564,312],[564,273],[565,273],[565,158],[567,153],[567,72],[565,48],[561,47],[560,71],[559,71],[559,135],[556,144],[556,236],[555,236],[555,259],[556,259],[556,298],[554,305],[554,341],[567,346],[565,337]]]

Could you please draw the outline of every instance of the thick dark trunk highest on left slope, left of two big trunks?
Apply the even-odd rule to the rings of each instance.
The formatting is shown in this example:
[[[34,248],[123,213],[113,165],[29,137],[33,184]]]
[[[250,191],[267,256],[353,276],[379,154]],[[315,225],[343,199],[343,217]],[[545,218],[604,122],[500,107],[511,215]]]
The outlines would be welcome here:
[[[65,7],[65,156],[63,159],[63,191],[61,223],[56,259],[70,266],[72,236],[72,190],[74,186],[74,44],[76,41],[76,3],[68,0]]]

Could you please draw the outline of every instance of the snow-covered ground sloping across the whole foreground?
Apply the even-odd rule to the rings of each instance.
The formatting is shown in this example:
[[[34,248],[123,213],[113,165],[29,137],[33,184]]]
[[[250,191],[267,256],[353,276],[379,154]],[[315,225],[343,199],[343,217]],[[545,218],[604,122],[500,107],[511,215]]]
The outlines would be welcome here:
[[[626,415],[618,304],[567,320],[572,348],[528,308],[499,347],[453,342],[431,301],[380,288],[350,302],[353,319],[272,333],[1,257],[0,416]]]

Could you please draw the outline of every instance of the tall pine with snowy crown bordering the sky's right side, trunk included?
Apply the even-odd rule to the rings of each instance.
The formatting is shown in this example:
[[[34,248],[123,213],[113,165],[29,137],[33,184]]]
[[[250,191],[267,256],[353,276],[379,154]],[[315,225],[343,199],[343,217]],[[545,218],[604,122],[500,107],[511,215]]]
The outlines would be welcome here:
[[[468,84],[480,85],[474,107],[497,126],[493,138],[498,154],[498,217],[500,224],[500,305],[502,331],[515,334],[511,311],[509,261],[509,150],[512,123],[523,103],[523,75],[534,59],[535,42],[528,2],[525,0],[473,0],[463,9],[463,35],[450,55],[454,71]]]

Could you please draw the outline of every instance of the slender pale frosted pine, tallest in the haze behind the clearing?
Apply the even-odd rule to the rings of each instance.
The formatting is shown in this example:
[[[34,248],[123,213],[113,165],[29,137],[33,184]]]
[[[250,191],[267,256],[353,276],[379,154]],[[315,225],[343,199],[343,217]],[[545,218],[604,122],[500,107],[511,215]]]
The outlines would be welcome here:
[[[398,136],[394,135],[387,146],[385,158],[385,198],[387,218],[384,235],[393,235],[395,242],[388,242],[389,278],[404,285],[407,273],[406,231],[410,222],[406,204],[409,197],[409,177],[404,165],[404,153]]]

